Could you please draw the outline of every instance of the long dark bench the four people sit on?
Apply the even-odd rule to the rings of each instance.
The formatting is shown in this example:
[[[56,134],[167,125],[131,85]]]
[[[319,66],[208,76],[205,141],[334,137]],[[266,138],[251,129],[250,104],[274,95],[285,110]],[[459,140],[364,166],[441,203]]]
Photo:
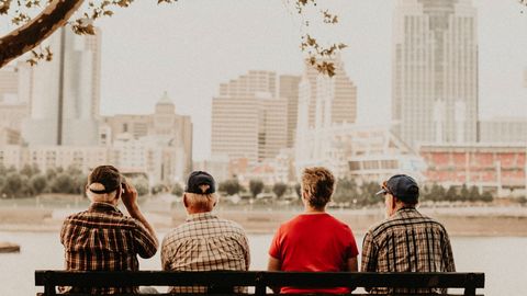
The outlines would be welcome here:
[[[255,295],[266,295],[269,286],[439,287],[463,288],[461,295],[474,296],[476,288],[484,287],[484,273],[35,271],[35,285],[44,286],[44,293],[37,294],[41,296],[56,295],[57,286],[208,286],[209,291],[223,291],[224,288],[249,286],[255,288]]]

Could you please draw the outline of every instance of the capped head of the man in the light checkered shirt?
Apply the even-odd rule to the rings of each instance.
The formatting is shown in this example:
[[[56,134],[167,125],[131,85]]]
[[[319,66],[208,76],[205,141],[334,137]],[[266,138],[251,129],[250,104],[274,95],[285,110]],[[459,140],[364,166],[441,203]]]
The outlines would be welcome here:
[[[197,209],[210,212],[216,203],[214,178],[204,171],[193,171],[187,181],[186,203]]]

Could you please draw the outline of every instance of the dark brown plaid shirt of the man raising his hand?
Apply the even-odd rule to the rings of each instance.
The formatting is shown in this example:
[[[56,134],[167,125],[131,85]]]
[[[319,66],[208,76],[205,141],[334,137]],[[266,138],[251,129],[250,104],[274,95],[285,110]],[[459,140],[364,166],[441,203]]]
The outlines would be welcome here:
[[[142,223],[106,203],[92,203],[88,210],[67,217],[60,230],[60,242],[68,271],[137,271],[137,254],[150,258],[157,251],[155,238]],[[137,292],[137,287],[60,289],[91,294]]]

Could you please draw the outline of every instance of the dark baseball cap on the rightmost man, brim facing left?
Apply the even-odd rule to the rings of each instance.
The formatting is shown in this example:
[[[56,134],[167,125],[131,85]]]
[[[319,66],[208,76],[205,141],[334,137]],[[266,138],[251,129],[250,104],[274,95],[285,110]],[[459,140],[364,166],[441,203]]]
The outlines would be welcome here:
[[[417,203],[419,198],[419,186],[415,180],[406,174],[395,174],[382,184],[382,189],[375,193],[386,194],[391,193],[393,196],[405,203]]]

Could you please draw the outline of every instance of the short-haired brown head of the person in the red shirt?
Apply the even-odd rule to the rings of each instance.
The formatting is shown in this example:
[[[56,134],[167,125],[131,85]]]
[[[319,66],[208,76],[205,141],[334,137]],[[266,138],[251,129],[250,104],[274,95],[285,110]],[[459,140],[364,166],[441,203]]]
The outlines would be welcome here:
[[[323,208],[332,198],[335,177],[324,167],[306,168],[302,173],[302,189],[312,207]]]

